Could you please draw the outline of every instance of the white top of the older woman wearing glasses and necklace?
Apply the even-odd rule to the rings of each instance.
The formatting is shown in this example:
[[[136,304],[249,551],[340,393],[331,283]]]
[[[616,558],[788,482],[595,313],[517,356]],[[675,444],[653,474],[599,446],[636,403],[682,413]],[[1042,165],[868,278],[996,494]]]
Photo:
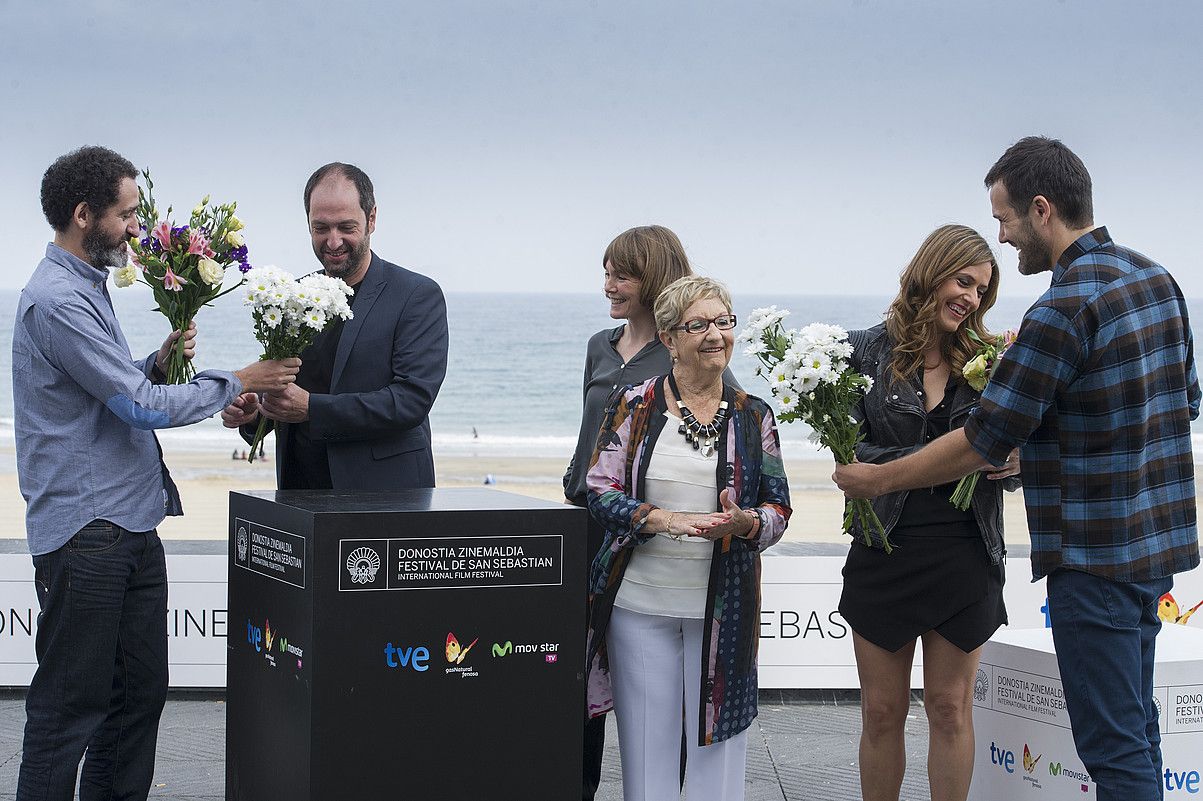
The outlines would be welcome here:
[[[718,455],[709,458],[677,433],[681,420],[664,413],[644,477],[645,498],[664,511],[718,511]],[[642,615],[706,617],[706,587],[715,544],[700,536],[657,534],[636,545],[614,605]]]

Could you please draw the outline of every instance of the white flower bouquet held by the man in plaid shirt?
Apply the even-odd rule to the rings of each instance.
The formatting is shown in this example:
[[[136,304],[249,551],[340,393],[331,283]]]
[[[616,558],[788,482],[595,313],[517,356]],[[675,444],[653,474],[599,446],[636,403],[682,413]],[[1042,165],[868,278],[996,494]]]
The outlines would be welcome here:
[[[830,449],[840,464],[852,464],[861,439],[852,410],[873,380],[848,366],[852,345],[847,331],[822,322],[787,330],[781,321],[788,314],[775,305],[754,309],[740,333],[748,343],[743,352],[760,361],[757,375],[769,381],[777,420],[801,420],[813,431],[812,441]],[[855,528],[865,545],[877,539],[887,553],[891,550],[882,522],[865,499],[849,500],[845,510],[843,530],[853,533]]]

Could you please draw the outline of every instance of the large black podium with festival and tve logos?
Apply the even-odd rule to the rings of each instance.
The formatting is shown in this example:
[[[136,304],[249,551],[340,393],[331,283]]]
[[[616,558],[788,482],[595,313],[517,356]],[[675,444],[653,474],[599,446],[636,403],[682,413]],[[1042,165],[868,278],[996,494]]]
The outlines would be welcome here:
[[[576,799],[586,512],[230,497],[226,799]]]

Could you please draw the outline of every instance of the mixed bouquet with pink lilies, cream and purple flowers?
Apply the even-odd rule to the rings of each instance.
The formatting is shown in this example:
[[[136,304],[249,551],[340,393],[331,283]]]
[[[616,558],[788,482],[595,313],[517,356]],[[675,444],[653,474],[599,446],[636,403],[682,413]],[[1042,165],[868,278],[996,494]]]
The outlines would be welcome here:
[[[177,226],[171,207],[159,216],[150,171],[143,170],[142,177],[146,188],[138,186],[136,212],[141,236],[130,239],[130,263],[117,271],[115,283],[149,286],[172,331],[186,331],[201,307],[242,286],[239,275],[237,284],[223,290],[227,267],[238,265],[239,273],[250,269],[242,220],[235,215],[237,203],[212,204],[206,195],[188,222]],[[184,357],[184,338],[177,344],[167,360],[167,382],[186,384],[195,370]]]

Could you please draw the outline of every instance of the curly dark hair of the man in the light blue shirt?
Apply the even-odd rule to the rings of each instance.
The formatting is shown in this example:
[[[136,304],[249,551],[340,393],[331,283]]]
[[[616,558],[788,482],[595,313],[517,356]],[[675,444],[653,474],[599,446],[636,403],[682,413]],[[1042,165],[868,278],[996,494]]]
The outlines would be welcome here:
[[[42,212],[55,231],[65,231],[79,203],[102,214],[117,202],[122,178],[137,179],[129,159],[99,144],[59,156],[42,176]]]

